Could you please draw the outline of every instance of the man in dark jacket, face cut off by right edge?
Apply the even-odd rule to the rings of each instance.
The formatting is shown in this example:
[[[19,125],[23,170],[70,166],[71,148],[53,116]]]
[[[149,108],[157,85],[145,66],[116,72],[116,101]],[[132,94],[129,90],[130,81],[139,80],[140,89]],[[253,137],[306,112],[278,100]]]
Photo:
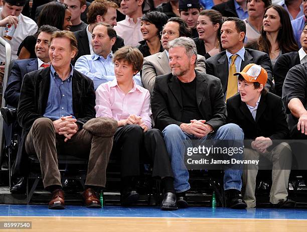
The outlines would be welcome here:
[[[282,95],[282,86],[284,79],[290,70],[297,64],[307,62],[307,24],[300,35],[301,48],[298,52],[289,52],[282,54],[277,60],[273,68],[275,91],[278,96]]]

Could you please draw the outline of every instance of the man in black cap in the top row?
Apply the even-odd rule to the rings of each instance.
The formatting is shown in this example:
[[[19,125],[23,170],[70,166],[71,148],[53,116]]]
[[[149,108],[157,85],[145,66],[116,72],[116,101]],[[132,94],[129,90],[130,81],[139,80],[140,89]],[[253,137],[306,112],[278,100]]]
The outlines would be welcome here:
[[[179,0],[180,18],[186,21],[188,27],[192,29],[192,38],[198,37],[196,27],[200,11],[199,0]]]

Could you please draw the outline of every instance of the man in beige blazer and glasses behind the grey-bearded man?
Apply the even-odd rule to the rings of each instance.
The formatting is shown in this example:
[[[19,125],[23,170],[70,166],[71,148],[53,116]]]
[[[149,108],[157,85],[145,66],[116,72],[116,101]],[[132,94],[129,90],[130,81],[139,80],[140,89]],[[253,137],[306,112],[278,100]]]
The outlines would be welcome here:
[[[192,31],[187,23],[178,17],[173,17],[168,20],[161,32],[161,43],[164,52],[159,52],[151,56],[147,56],[143,61],[142,68],[142,83],[144,88],[148,89],[150,94],[154,89],[156,77],[171,72],[169,65],[169,46],[168,43],[179,37],[191,37]],[[197,55],[196,70],[206,73],[205,57]]]

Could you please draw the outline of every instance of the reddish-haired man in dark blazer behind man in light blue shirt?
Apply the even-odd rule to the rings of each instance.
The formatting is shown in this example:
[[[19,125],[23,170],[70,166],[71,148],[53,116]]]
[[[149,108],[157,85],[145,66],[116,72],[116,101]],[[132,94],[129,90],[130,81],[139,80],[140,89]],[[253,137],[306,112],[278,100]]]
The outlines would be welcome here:
[[[78,41],[78,54],[72,64],[74,65],[76,60],[80,56],[84,55],[93,55],[91,43],[89,38],[91,38],[92,30],[96,23],[102,22],[110,24],[112,27],[116,25],[116,9],[118,8],[117,4],[105,1],[93,2],[88,8],[88,26],[87,28],[74,32],[77,41]],[[112,46],[112,52],[116,52],[118,48],[124,46],[124,41],[121,37],[116,36],[115,44]]]

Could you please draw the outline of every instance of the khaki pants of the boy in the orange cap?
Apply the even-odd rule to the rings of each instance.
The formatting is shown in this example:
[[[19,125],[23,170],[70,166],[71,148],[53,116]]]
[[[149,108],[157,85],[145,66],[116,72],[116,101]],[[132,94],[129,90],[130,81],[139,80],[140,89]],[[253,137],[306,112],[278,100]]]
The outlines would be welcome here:
[[[288,196],[288,182],[290,175],[290,168],[292,162],[292,153],[290,146],[287,143],[281,143],[272,149],[269,153],[261,154],[270,160],[272,167],[272,187],[270,191],[270,202],[277,204],[280,200],[285,200]],[[259,160],[260,153],[255,150],[245,148],[244,159]],[[289,170],[284,170],[287,167]],[[247,207],[256,206],[256,176],[258,173],[258,165],[248,164],[244,165],[242,179],[243,179],[243,200]]]

